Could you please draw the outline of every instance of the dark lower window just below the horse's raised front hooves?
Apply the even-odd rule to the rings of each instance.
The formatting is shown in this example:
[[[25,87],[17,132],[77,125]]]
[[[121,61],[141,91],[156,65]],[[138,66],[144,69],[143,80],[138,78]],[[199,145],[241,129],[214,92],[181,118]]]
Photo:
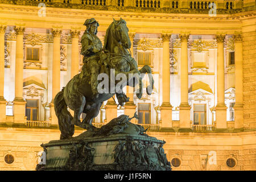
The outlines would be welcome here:
[[[138,113],[139,113],[139,121],[140,124],[150,124],[150,104],[139,103],[138,104]]]

